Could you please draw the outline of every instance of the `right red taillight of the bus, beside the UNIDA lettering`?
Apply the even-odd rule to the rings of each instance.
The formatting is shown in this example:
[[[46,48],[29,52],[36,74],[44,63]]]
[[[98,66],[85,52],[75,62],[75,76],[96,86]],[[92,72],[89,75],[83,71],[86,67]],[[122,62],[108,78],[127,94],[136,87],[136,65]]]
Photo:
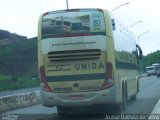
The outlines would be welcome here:
[[[114,78],[113,78],[113,66],[112,63],[107,62],[106,63],[106,79],[101,87],[101,89],[107,89],[114,85]]]

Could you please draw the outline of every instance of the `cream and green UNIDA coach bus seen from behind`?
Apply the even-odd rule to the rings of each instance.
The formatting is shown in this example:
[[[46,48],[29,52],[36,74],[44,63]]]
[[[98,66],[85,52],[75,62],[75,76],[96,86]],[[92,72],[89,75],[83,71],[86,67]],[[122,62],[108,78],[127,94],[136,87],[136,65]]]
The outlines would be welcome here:
[[[85,19],[92,29],[74,32],[74,28],[66,33],[54,28],[52,31],[50,22],[46,23],[46,19],[58,17],[84,21],[82,16],[88,16]],[[56,106],[59,115],[105,114],[109,106],[119,112],[124,110],[126,101],[135,100],[139,91],[141,58],[134,34],[108,10],[69,9],[40,16],[38,70],[42,104]]]

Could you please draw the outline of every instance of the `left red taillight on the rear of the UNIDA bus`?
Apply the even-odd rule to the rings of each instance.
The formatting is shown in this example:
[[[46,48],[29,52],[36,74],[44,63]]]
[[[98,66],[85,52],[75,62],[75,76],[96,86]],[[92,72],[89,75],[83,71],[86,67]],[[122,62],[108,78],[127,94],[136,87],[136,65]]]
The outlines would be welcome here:
[[[40,71],[39,71],[39,75],[40,75],[40,86],[43,90],[47,91],[47,92],[52,92],[52,89],[49,87],[49,85],[46,82],[46,75],[45,75],[45,68],[44,66],[40,67]]]

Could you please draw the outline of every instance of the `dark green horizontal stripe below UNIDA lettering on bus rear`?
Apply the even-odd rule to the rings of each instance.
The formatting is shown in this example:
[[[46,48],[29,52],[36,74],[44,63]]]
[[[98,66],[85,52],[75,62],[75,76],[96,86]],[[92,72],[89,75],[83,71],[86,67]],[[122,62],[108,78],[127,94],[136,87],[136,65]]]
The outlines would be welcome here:
[[[62,82],[62,81],[81,81],[81,80],[97,80],[97,79],[105,79],[105,73],[98,74],[81,74],[81,75],[61,75],[61,76],[47,76],[47,82]]]

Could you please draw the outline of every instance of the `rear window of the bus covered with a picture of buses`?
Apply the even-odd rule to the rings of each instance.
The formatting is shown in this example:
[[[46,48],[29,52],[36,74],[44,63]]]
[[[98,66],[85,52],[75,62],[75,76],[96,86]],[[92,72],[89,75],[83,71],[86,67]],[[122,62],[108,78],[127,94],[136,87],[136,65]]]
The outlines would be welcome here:
[[[97,10],[51,12],[42,19],[42,37],[105,35],[103,12]]]

